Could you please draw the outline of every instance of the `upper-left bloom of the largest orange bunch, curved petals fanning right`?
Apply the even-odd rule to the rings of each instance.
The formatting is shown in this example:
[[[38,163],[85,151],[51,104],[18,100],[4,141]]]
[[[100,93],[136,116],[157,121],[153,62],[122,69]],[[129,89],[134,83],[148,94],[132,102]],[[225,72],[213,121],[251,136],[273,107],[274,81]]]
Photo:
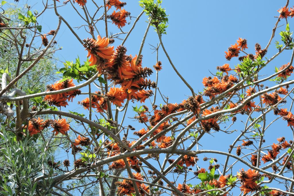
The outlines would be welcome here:
[[[100,57],[102,60],[109,60],[114,53],[114,46],[108,47],[109,39],[106,37],[101,38],[100,36],[97,36],[97,40],[94,40],[93,38],[87,38],[84,39],[83,42],[85,42],[83,44],[83,46],[86,48],[85,50],[88,50],[87,57],[91,56],[89,59],[91,62],[90,66],[97,63],[97,57]]]

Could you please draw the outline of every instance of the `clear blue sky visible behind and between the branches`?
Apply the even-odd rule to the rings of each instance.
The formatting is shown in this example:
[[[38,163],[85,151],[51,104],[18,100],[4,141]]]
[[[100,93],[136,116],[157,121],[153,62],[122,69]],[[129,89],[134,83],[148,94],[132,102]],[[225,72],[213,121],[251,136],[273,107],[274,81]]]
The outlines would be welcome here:
[[[98,1],[102,3],[103,1]],[[124,7],[127,11],[131,12],[131,16],[137,17],[142,11],[136,0],[126,1],[127,5]],[[275,25],[279,16],[277,9],[285,5],[286,1],[274,1],[274,0],[260,0],[260,1],[235,1],[235,0],[211,0],[211,1],[176,1],[176,0],[163,0],[162,7],[166,8],[168,16],[168,28],[166,29],[167,35],[163,35],[163,43],[165,48],[181,75],[187,80],[187,82],[197,91],[203,91],[202,79],[205,76],[211,76],[216,72],[216,66],[221,66],[225,63],[229,63],[231,68],[239,63],[237,58],[233,58],[231,61],[226,61],[224,57],[224,51],[236,42],[238,37],[246,38],[248,40],[248,49],[246,52],[255,53],[254,44],[260,43],[264,48],[268,43],[268,40],[272,33],[272,28]],[[58,2],[57,2],[58,3]],[[292,5],[294,1],[290,0]],[[33,9],[41,11],[42,4],[40,1],[29,0],[28,4],[33,6]],[[61,4],[61,3],[60,3]],[[81,11],[81,8],[75,4],[76,9]],[[88,8],[91,10],[91,8]],[[113,9],[111,9],[112,11]],[[80,26],[81,19],[79,19],[72,9],[71,5],[67,5],[59,8],[59,13],[71,24],[72,27]],[[103,11],[100,11],[100,16]],[[132,18],[131,24],[123,27],[123,31],[128,31],[135,19]],[[133,56],[138,53],[140,43],[143,38],[143,34],[147,27],[146,21],[148,17],[143,15],[137,23],[135,29],[131,33],[125,46],[128,49],[127,54]],[[289,19],[290,30],[294,29],[293,19]],[[127,20],[130,21],[129,19]],[[57,17],[54,14],[54,10],[51,9],[45,12],[44,16],[38,19],[38,22],[43,26],[44,33],[51,29],[55,29],[57,26]],[[101,36],[105,36],[105,30],[103,26],[104,21],[98,23],[97,27],[101,27],[99,32]],[[285,24],[285,20],[282,20],[279,25]],[[119,29],[111,23],[108,23],[109,32],[118,33]],[[278,50],[275,48],[274,41],[280,40],[279,32],[285,29],[285,25],[279,27],[276,30],[276,35],[272,44],[269,47],[267,58],[270,58]],[[83,27],[77,30],[81,39],[87,38],[87,34]],[[96,33],[95,33],[96,34]],[[96,34],[97,35],[97,34]],[[121,36],[124,38],[124,36]],[[56,37],[59,46],[62,46],[61,51],[56,52],[56,57],[60,61],[75,61],[77,56],[81,61],[86,60],[87,52],[84,51],[83,46],[76,40],[73,34],[66,28],[63,23],[59,34]],[[122,41],[116,40],[113,44],[116,48]],[[146,42],[142,51],[143,54],[143,66],[152,67],[156,63],[156,53],[150,49],[151,45],[156,46],[159,43],[157,34],[151,27]],[[268,75],[274,73],[275,66],[281,65],[290,61],[292,51],[284,51],[278,58],[269,63],[262,74]],[[158,60],[162,62],[163,69],[159,72],[158,87],[163,95],[169,97],[170,103],[181,103],[183,99],[191,95],[190,90],[183,84],[180,78],[173,71],[162,49],[159,50]],[[59,67],[62,67],[62,62],[58,63]],[[155,81],[155,74],[151,76],[151,79]],[[274,83],[268,83],[268,85],[274,85]],[[159,98],[159,97],[158,97]],[[74,104],[71,104],[66,108],[69,110],[78,109],[83,110],[76,105],[78,100],[82,100],[83,96],[74,99]],[[161,99],[157,99],[158,105],[163,103]],[[131,112],[129,108],[128,117],[133,117],[135,113]],[[81,111],[86,112],[86,111]],[[239,115],[240,116],[240,115]],[[237,116],[237,118],[239,118]],[[244,120],[244,116],[240,119]],[[270,119],[267,119],[267,125]],[[131,120],[126,120],[126,125],[133,123]],[[137,130],[143,128],[142,125],[136,123]],[[283,128],[281,128],[281,125]],[[140,127],[141,126],[141,127]],[[235,140],[235,137],[240,134],[240,130],[243,130],[244,125],[242,123],[236,123],[232,126],[233,129],[238,129],[238,132],[231,135],[223,133],[217,133],[206,135],[201,141],[203,149],[218,149],[225,152],[228,151],[228,145]],[[221,126],[223,128],[223,126]],[[272,128],[268,130],[265,137],[268,144],[276,142],[276,138],[280,136],[288,136],[288,140],[291,139],[290,128],[286,127],[286,123],[282,120],[278,120],[273,123]],[[203,158],[202,155],[199,156]],[[220,162],[223,162],[225,157],[220,158]],[[200,165],[200,167],[207,168],[206,165]]]

